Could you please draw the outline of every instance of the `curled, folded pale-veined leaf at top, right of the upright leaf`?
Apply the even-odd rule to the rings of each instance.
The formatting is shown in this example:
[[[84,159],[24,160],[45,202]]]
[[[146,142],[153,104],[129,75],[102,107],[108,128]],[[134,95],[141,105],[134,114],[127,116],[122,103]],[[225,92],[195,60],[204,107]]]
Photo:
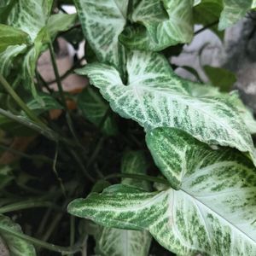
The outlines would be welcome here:
[[[189,43],[193,38],[193,1],[162,1],[166,12],[161,9],[161,1],[143,0],[134,9],[131,20],[144,27],[127,27],[120,36],[123,44],[131,49],[161,50],[168,46]],[[156,17],[165,17],[157,20]]]

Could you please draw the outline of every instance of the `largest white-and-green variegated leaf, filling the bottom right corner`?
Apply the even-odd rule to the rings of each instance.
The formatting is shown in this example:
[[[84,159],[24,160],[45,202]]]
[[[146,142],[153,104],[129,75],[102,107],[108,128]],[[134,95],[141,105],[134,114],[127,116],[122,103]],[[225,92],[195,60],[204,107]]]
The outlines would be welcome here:
[[[255,255],[256,172],[250,161],[235,149],[213,150],[177,129],[152,132],[159,148],[178,146],[166,163],[173,177],[182,172],[180,190],[148,193],[115,185],[71,202],[68,212],[108,227],[149,230],[179,255]]]

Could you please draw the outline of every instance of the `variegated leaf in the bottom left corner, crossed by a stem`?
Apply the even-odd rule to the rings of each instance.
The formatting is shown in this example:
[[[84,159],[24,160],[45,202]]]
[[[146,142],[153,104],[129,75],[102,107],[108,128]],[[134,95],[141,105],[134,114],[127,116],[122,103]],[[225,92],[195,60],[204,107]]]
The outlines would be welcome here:
[[[32,244],[18,238],[15,235],[9,234],[7,230],[12,233],[22,233],[19,224],[15,224],[9,217],[0,215],[0,236],[6,243],[11,256],[35,256],[36,251]]]

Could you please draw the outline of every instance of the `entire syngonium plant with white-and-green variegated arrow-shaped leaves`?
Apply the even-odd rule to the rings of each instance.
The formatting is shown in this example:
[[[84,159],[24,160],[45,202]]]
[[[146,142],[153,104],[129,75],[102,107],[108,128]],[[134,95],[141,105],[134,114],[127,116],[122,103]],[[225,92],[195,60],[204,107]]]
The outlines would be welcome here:
[[[78,15],[66,14],[65,3]],[[256,255],[253,113],[228,91],[232,73],[204,67],[212,84],[203,84],[187,67],[199,78],[191,82],[168,60],[194,38],[195,24],[222,39],[255,8],[254,0],[3,0],[0,252],[84,255],[93,236],[105,256],[162,255],[152,238],[177,255]],[[85,39],[84,56],[63,75],[60,37],[75,49]],[[57,91],[38,72],[46,50]],[[73,70],[90,81],[75,96],[62,89]],[[61,117],[50,117],[55,109]],[[32,143],[21,152],[6,146],[24,136]],[[37,143],[46,156],[32,154]],[[6,164],[8,152],[19,157]],[[24,159],[54,176],[32,177]],[[38,230],[28,208],[42,216]],[[57,230],[69,247],[49,243],[62,242]]]

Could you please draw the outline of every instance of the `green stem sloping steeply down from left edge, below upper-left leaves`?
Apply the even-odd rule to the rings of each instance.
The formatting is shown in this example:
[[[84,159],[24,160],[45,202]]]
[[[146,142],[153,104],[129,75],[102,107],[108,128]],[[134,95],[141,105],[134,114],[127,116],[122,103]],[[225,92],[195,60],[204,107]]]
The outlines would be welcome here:
[[[37,115],[35,113],[33,113],[30,108],[27,108],[26,103],[23,102],[21,100],[20,96],[18,96],[16,94],[15,90],[13,90],[11,85],[6,81],[6,79],[3,78],[2,74],[0,74],[0,83],[3,84],[4,89],[7,90],[9,95],[13,97],[15,102],[20,106],[20,108],[26,113],[26,115],[30,119],[32,119],[34,122],[38,123],[38,125],[41,125],[43,127],[46,126],[40,119],[38,119]]]

